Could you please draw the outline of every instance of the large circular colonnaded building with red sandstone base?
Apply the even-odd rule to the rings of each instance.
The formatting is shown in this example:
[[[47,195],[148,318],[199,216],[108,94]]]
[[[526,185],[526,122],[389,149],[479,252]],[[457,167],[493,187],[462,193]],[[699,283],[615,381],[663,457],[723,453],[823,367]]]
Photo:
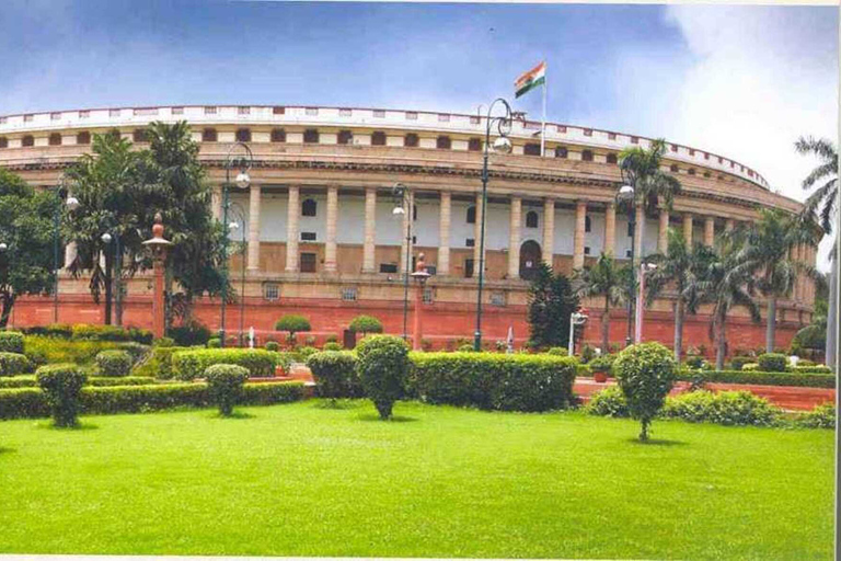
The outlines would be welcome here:
[[[424,337],[435,346],[472,337],[484,117],[251,105],[9,115],[0,116],[0,165],[35,186],[53,187],[64,170],[90,150],[93,134],[118,129],[143,146],[143,128],[151,121],[189,123],[209,168],[218,217],[229,148],[242,141],[253,151],[250,187],[230,190],[233,220],[244,226],[232,238],[244,236],[247,251],[244,263],[239,255],[232,257],[233,284],[238,291],[244,286],[244,318],[240,320],[239,305],[229,307],[228,331],[240,325],[270,331],[281,314],[302,313],[318,337],[341,337],[353,317],[367,313],[380,318],[388,332],[400,333],[402,271],[423,252],[434,273],[424,294]],[[650,140],[550,123],[541,156],[540,129],[540,123],[514,121],[512,153],[491,157],[483,332],[492,343],[505,339],[509,327],[517,340],[528,337],[527,279],[541,261],[571,274],[601,252],[620,260],[631,252],[629,221],[614,203],[621,184],[617,160],[622,149],[647,147]],[[665,165],[680,179],[683,192],[671,211],[638,221],[642,253],[663,248],[668,227],[682,229],[688,240],[711,244],[735,224],[754,220],[761,207],[800,208],[771,192],[754,170],[724,156],[669,144]],[[414,203],[412,211],[398,219],[392,213],[395,183],[408,187]],[[70,256],[72,248],[67,252]],[[815,261],[808,248],[795,256]],[[128,284],[124,323],[150,324],[150,291],[148,276]],[[85,280],[62,275],[59,295],[61,322],[101,321],[101,307],[93,304]],[[779,345],[787,344],[810,320],[813,299],[811,284],[802,280],[792,298],[780,302]],[[13,323],[51,322],[50,302],[46,297],[21,299]],[[585,306],[596,311],[601,304]],[[646,311],[645,339],[671,343],[671,307],[666,295]],[[197,316],[218,328],[218,300],[203,300]],[[594,344],[600,339],[598,316],[590,314],[585,331],[585,340]],[[704,308],[688,318],[687,344],[711,346],[707,324]],[[762,324],[735,310],[728,322],[729,348],[760,347],[763,332]],[[620,343],[624,336],[625,311],[617,309],[611,341]]]

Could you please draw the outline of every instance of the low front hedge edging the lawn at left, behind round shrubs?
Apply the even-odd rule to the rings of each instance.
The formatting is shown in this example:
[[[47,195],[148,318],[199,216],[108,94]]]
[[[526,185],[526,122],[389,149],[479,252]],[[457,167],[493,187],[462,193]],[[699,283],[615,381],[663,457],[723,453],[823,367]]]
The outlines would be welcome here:
[[[125,378],[123,378],[125,379]],[[206,383],[161,383],[152,386],[120,386],[82,388],[82,414],[137,413],[181,407],[211,407]],[[240,403],[270,405],[303,398],[301,382],[246,383]],[[0,390],[0,419],[49,416],[44,392],[37,388]]]

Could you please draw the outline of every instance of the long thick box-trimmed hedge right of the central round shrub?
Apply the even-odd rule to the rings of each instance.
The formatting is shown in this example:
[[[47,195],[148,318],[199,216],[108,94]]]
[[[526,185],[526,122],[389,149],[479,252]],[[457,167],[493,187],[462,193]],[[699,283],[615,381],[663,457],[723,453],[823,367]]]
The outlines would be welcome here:
[[[412,353],[411,359],[410,396],[500,411],[568,407],[578,364],[549,354]]]

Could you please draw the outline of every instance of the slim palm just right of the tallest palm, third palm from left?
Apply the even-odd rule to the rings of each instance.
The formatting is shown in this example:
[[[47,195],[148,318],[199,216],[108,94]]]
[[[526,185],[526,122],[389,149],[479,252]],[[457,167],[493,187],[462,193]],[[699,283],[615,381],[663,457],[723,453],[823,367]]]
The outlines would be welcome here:
[[[715,257],[714,252],[702,243],[687,248],[683,234],[669,229],[666,253],[649,255],[647,261],[657,265],[647,275],[647,305],[663,291],[675,294],[675,359],[680,363],[683,350],[683,321],[687,312],[695,313],[704,290],[708,287],[705,274]]]

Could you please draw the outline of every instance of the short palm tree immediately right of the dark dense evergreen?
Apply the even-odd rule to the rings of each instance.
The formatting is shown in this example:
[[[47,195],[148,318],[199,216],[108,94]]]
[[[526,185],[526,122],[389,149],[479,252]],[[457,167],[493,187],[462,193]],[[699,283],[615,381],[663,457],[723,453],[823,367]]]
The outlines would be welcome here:
[[[573,286],[579,297],[604,297],[604,309],[601,312],[601,352],[610,350],[610,307],[619,306],[627,299],[630,265],[620,266],[610,255],[601,253],[596,264],[576,271]]]

